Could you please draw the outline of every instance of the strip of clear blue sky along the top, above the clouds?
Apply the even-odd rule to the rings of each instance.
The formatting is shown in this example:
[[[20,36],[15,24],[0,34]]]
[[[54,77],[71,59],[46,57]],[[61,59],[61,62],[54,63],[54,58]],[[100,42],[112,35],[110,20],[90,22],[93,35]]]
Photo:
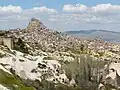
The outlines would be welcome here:
[[[33,6],[48,6],[60,10],[64,4],[85,4],[94,6],[97,4],[120,4],[119,0],[1,0],[0,5],[19,5],[22,8],[32,8]]]

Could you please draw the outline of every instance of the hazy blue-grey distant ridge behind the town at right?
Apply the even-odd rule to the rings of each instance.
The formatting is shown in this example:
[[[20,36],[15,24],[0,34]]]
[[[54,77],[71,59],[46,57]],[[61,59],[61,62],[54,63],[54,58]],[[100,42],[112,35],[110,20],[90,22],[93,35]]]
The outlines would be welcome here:
[[[108,31],[108,30],[79,30],[79,31],[66,31],[66,34],[70,36],[84,37],[84,38],[96,38],[99,37],[105,41],[120,43],[120,32]]]

